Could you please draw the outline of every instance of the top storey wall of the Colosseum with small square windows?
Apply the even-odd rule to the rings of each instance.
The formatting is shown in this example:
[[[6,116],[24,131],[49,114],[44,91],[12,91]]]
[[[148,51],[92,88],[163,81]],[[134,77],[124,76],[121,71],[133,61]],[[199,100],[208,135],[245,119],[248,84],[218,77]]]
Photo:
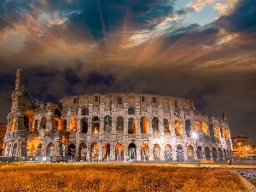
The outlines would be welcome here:
[[[122,107],[124,103],[127,103],[128,107],[133,108],[136,108],[136,105],[140,105],[142,111],[146,111],[148,105],[151,105],[153,110],[154,108],[158,110],[160,105],[164,111],[169,111],[170,107],[195,110],[194,102],[189,99],[136,93],[97,93],[81,96],[67,96],[61,98],[60,102],[64,111],[67,110],[67,108],[75,110],[78,106],[89,107],[89,104],[92,104],[94,108],[99,107],[100,104],[104,104],[105,110],[108,111],[111,105]]]

